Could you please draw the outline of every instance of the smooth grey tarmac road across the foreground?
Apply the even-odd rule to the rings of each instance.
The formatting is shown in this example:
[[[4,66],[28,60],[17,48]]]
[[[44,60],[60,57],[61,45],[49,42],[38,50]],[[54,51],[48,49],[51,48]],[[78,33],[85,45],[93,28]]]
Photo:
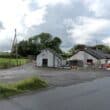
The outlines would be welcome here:
[[[0,110],[110,110],[110,78],[1,100]]]

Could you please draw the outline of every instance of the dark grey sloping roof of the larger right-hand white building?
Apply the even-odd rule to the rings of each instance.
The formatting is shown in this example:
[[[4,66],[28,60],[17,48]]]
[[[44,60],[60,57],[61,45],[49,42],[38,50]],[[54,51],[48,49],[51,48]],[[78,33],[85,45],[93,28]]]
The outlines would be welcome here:
[[[110,59],[110,54],[104,53],[99,49],[94,50],[91,48],[85,48],[84,51],[87,52],[88,54],[94,56],[97,59]]]

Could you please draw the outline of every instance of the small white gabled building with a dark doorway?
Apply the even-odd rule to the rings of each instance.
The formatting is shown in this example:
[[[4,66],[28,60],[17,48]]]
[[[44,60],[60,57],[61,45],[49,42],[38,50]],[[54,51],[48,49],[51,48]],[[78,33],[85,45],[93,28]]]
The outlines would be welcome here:
[[[36,58],[37,66],[40,67],[60,67],[63,59],[52,49],[44,49]]]

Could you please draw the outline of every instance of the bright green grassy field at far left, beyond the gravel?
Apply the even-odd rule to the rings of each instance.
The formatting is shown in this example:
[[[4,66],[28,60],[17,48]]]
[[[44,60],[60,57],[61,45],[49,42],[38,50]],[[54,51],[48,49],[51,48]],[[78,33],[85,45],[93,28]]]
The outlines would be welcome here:
[[[0,58],[0,68],[10,68],[27,63],[27,59]]]

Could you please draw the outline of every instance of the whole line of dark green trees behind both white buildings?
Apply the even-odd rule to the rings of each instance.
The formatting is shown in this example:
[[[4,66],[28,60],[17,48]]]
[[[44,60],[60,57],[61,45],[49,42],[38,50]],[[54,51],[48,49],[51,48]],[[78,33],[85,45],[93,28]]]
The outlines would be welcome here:
[[[61,50],[61,43],[62,41],[59,37],[53,37],[50,33],[41,33],[39,35],[30,37],[28,40],[20,41],[17,44],[18,55],[21,57],[27,57],[28,55],[36,56],[42,49],[50,48],[61,54],[62,57],[66,59],[75,54],[79,49],[84,49],[86,47],[100,49],[103,52],[110,54],[110,47],[103,44],[98,44],[95,46],[77,44],[74,45],[68,52],[64,52]],[[14,48],[12,51],[13,56],[15,56],[15,51],[16,48]]]

